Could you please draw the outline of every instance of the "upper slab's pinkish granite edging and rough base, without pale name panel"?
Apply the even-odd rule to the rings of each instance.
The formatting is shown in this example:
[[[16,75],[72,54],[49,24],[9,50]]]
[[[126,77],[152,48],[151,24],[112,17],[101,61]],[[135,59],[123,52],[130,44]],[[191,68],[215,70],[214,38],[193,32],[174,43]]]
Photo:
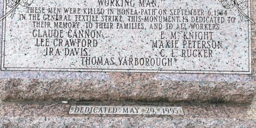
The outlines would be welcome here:
[[[256,0],[251,14],[256,19]],[[250,103],[255,34],[252,26],[253,75],[0,71],[0,100]]]

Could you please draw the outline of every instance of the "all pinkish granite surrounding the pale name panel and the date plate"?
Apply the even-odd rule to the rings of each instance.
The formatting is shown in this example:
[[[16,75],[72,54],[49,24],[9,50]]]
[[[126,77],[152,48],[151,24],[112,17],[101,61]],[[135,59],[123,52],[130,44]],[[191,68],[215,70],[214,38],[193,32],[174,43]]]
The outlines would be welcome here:
[[[0,127],[256,127],[255,34],[252,75],[0,71]],[[185,115],[72,115],[71,105],[181,106]]]

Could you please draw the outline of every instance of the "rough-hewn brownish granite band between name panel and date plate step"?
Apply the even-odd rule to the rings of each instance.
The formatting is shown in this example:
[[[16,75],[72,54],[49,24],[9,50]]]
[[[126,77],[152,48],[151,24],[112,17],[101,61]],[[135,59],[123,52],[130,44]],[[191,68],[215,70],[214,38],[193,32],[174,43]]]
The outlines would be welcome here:
[[[251,103],[255,82],[0,79],[2,101]]]

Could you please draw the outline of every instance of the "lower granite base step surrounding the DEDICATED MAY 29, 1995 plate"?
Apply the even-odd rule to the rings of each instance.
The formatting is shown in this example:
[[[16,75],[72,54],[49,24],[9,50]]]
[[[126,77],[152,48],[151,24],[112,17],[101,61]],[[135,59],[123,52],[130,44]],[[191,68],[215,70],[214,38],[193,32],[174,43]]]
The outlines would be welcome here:
[[[71,105],[182,106],[185,116],[70,115]],[[116,102],[3,102],[0,127],[256,127],[255,101],[251,105],[170,104]]]

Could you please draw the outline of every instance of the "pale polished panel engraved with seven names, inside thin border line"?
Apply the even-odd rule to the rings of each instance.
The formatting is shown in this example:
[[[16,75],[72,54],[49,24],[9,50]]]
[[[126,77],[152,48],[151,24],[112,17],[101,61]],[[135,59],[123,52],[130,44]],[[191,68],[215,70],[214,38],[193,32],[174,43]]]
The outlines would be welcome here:
[[[252,74],[250,0],[13,1],[1,70]]]

